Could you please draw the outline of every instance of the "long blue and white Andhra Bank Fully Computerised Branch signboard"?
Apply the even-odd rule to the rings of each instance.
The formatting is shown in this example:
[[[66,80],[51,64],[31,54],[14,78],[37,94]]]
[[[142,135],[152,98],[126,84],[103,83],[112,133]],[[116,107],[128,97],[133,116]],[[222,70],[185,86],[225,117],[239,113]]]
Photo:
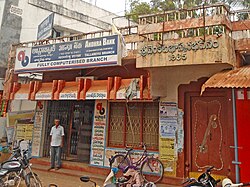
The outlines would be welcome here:
[[[121,65],[118,35],[17,48],[15,73]]]

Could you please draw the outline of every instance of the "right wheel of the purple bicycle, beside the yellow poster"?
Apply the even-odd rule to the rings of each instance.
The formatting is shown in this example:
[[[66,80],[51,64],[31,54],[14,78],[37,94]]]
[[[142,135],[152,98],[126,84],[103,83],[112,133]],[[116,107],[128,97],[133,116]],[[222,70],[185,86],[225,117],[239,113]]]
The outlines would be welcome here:
[[[142,164],[140,173],[146,182],[157,183],[163,177],[163,164],[157,158],[149,158]]]

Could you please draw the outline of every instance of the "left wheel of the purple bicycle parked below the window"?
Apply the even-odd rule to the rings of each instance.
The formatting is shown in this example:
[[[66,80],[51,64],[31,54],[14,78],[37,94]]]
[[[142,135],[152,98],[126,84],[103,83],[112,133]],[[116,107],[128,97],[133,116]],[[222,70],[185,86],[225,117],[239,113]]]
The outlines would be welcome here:
[[[111,158],[109,164],[110,169],[116,169],[118,170],[117,172],[124,173],[129,166],[129,160],[124,155],[118,154]]]

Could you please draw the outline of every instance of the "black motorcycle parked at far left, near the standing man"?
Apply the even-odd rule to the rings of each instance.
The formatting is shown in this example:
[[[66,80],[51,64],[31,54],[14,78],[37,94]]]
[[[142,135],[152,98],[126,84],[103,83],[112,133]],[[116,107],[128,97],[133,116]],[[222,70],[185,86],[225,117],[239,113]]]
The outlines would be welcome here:
[[[42,187],[42,183],[31,169],[31,163],[29,162],[31,157],[28,157],[28,149],[20,149],[20,143],[13,149],[12,156],[1,164],[0,168],[0,186],[11,187],[21,185],[22,181],[25,181],[27,187]]]

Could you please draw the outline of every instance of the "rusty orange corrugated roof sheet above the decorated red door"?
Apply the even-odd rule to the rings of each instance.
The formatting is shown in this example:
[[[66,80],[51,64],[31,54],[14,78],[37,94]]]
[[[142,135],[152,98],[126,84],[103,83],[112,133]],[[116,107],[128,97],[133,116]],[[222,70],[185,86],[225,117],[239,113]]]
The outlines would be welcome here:
[[[234,70],[224,70],[210,77],[201,88],[201,94],[206,88],[249,88],[250,66]]]

